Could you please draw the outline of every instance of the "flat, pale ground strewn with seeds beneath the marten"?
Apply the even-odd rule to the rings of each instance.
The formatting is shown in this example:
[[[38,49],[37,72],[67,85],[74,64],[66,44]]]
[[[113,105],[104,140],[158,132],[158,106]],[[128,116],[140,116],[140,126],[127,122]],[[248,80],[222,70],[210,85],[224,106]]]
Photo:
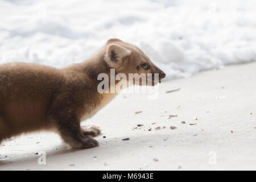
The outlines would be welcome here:
[[[69,150],[56,134],[24,135],[2,143],[0,171],[256,170],[255,70],[256,63],[232,65],[166,81],[154,101],[120,94],[82,123],[101,127],[99,147]]]

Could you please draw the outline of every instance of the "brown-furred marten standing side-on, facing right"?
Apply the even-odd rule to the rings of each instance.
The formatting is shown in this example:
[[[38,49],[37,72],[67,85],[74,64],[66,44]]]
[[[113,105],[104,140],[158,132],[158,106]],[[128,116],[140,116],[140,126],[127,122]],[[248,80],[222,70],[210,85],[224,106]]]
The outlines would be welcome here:
[[[127,51],[129,50],[129,51]],[[150,65],[143,70],[142,63]],[[89,59],[63,69],[38,64],[0,65],[0,142],[22,133],[57,131],[73,148],[90,148],[98,142],[96,126],[81,127],[82,119],[92,117],[116,94],[97,92],[97,76],[116,73],[160,73],[137,47],[110,39]]]

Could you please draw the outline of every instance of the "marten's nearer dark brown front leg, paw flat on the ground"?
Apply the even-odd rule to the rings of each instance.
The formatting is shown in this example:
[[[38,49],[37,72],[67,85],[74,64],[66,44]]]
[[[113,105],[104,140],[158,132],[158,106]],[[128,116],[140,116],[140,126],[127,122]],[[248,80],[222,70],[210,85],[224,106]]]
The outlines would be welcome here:
[[[69,115],[69,114],[68,114]],[[92,148],[97,147],[97,140],[88,135],[82,134],[79,119],[75,115],[58,117],[57,125],[61,138],[64,142],[70,144],[72,148]]]

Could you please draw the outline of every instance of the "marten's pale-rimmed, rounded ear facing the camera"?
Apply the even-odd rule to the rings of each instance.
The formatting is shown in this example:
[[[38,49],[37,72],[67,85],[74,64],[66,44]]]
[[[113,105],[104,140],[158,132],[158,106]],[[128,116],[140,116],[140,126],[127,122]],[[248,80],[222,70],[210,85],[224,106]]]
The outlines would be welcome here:
[[[110,67],[119,68],[130,54],[130,50],[117,44],[110,44],[106,50],[105,61]]]

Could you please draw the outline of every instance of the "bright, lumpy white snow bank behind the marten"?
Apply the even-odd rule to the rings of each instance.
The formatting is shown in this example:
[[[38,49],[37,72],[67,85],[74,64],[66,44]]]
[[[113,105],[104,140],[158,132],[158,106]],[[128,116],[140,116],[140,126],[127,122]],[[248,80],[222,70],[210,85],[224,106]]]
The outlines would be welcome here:
[[[188,77],[256,60],[256,1],[0,1],[0,64],[57,68],[110,38],[139,46],[167,73]]]

